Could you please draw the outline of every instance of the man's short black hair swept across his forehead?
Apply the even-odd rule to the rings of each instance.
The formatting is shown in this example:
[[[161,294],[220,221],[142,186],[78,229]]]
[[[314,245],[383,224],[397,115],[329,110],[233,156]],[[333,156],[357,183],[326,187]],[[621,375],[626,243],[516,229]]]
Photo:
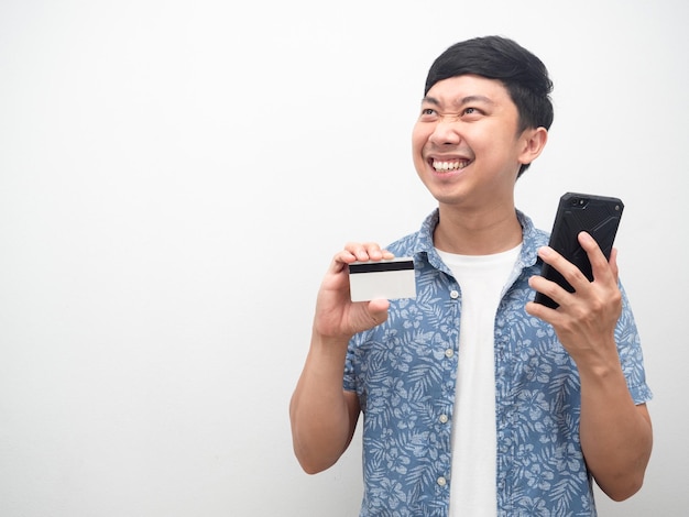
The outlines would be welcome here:
[[[528,128],[550,129],[553,81],[548,69],[533,53],[507,37],[483,36],[450,46],[430,66],[424,95],[436,82],[462,75],[500,80],[520,114],[520,132]],[[520,175],[528,168],[522,165]]]

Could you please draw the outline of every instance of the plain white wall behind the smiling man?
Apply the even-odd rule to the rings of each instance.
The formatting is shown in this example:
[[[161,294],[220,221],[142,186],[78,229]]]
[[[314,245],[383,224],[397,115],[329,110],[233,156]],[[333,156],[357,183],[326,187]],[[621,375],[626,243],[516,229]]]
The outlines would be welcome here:
[[[683,0],[0,3],[0,515],[356,515],[356,441],[317,476],[287,405],[348,240],[434,207],[409,134],[430,62],[514,37],[556,121],[517,187],[617,195],[656,444],[601,515],[689,503]]]

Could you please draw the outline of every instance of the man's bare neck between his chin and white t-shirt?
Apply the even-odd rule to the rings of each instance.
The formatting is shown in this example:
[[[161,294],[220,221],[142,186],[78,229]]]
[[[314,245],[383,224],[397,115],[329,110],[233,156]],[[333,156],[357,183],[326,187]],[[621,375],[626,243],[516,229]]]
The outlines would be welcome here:
[[[513,205],[464,213],[442,205],[433,240],[437,249],[460,255],[491,255],[522,242],[522,226]]]

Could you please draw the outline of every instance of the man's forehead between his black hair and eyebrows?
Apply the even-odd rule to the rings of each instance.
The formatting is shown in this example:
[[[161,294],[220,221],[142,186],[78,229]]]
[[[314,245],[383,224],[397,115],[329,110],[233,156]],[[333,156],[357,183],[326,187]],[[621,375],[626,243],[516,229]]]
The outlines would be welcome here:
[[[430,87],[424,101],[442,106],[462,106],[468,101],[492,105],[513,103],[502,81],[474,75],[439,80]]]

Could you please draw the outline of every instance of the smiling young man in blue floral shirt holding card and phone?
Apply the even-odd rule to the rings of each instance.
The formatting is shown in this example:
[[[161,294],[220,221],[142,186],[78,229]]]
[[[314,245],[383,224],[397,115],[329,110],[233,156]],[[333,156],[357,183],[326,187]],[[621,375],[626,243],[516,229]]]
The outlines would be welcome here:
[[[511,40],[449,47],[413,131],[437,210],[387,250],[348,244],[322,280],[294,449],[306,472],[328,469],[363,413],[361,516],[595,515],[592,479],[616,501],[642,485],[650,392],[615,251],[580,235],[589,282],[514,206],[551,88]],[[416,298],[351,302],[347,265],[393,255],[414,257]],[[538,276],[544,262],[576,292]]]

